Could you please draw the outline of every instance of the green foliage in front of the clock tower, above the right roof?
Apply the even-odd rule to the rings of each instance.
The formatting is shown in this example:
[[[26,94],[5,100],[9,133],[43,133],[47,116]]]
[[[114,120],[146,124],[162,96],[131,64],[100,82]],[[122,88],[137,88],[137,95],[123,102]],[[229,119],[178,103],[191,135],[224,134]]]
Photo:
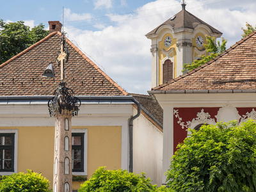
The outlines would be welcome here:
[[[205,49],[207,52],[209,52],[209,56],[200,56],[199,60],[194,60],[192,63],[184,63],[183,67],[184,70],[193,70],[194,68],[197,68],[201,65],[204,65],[204,63],[207,63],[208,61],[211,61],[213,58],[218,56],[218,54],[221,54],[221,52],[225,51],[227,40],[225,38],[221,38],[220,41],[217,42],[217,44],[214,44],[215,37],[213,36],[206,36],[207,44],[204,44]]]

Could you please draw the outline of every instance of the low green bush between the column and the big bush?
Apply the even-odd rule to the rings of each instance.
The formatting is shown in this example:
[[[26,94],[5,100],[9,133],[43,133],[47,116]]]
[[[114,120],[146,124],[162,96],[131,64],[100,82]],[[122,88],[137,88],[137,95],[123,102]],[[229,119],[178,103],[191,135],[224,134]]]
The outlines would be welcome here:
[[[167,191],[162,186],[157,188],[156,185],[150,183],[150,179],[146,179],[145,174],[128,173],[127,170],[105,170],[100,167],[96,170],[92,178],[81,184],[79,192],[89,191],[131,191],[131,192],[154,192]]]

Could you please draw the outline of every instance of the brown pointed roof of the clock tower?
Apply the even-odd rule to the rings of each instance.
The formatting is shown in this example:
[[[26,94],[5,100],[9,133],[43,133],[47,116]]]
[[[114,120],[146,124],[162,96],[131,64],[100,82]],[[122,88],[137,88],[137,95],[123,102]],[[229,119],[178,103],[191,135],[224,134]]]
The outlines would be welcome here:
[[[210,26],[203,20],[199,19],[195,15],[189,13],[184,8],[179,13],[177,13],[176,15],[173,15],[173,17],[166,20],[166,22],[163,22],[163,24],[161,24],[157,28],[155,28],[152,31],[150,31],[149,33],[147,33],[146,36],[155,34],[157,32],[157,30],[161,26],[164,26],[164,25],[172,26],[172,28],[175,30],[175,29],[186,29],[186,28],[187,29],[195,29],[196,26],[198,26],[199,24],[204,24],[205,26],[208,26],[211,29],[212,33],[218,33],[218,34],[222,35],[222,33],[220,31],[213,28],[212,26]]]

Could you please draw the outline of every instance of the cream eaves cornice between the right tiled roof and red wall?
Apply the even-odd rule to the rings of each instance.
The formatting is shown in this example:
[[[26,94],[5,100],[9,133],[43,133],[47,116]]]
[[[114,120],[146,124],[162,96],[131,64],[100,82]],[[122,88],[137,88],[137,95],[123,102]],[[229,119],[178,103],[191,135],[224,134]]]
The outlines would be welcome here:
[[[256,107],[256,90],[174,90],[148,93],[156,97],[162,108],[220,107],[223,104]]]

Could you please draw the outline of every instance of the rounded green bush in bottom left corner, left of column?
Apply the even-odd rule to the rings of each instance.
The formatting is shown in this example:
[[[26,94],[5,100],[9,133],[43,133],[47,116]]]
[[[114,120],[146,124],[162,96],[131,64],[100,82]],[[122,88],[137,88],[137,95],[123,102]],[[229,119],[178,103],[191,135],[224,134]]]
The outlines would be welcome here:
[[[49,190],[49,180],[41,174],[28,170],[28,173],[13,173],[10,176],[3,176],[0,182],[1,192],[44,192]]]

